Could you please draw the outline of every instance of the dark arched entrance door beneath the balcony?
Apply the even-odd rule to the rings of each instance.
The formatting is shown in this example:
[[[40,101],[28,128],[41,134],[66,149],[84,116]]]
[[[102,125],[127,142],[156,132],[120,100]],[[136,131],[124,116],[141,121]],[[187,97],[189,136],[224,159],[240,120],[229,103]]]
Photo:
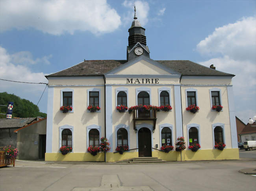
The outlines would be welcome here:
[[[152,156],[151,132],[143,127],[138,131],[139,157]]]

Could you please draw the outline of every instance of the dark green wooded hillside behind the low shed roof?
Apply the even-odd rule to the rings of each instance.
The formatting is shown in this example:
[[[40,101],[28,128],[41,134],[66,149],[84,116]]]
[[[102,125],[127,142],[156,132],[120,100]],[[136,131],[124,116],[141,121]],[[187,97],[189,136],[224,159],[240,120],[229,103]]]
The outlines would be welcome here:
[[[39,108],[26,99],[21,99],[14,94],[7,92],[0,93],[0,105],[7,105],[8,102],[13,102],[13,117],[46,117],[46,113],[39,111]],[[7,107],[0,106],[0,113],[6,113]],[[6,115],[0,115],[0,118],[6,118]]]

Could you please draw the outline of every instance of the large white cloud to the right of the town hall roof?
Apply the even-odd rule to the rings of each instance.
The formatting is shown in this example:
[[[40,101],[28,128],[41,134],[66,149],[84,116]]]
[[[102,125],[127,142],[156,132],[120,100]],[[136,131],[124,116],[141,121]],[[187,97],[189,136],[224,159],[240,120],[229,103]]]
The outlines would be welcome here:
[[[236,75],[234,98],[236,115],[243,120],[256,113],[256,17],[243,18],[234,24],[216,28],[207,38],[197,44],[202,55],[210,60],[199,62],[207,67]],[[221,56],[216,56],[221,55]]]

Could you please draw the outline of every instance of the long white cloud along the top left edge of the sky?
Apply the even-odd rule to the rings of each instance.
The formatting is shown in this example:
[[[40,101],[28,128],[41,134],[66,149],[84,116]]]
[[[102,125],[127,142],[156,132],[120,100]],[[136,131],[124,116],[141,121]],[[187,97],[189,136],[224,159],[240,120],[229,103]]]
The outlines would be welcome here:
[[[76,30],[99,34],[121,25],[106,0],[2,0],[0,7],[0,31],[32,27],[52,35]]]

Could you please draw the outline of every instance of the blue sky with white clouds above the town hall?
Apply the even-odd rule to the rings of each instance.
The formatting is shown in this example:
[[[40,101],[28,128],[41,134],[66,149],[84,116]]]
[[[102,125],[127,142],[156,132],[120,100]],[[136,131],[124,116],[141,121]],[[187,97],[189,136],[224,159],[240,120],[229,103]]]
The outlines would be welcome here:
[[[2,0],[0,78],[46,82],[85,60],[125,60],[134,1]],[[233,73],[236,115],[256,115],[255,0],[136,0],[150,58],[191,60]],[[45,85],[0,80],[0,92],[37,104]],[[47,111],[47,89],[39,102]]]

